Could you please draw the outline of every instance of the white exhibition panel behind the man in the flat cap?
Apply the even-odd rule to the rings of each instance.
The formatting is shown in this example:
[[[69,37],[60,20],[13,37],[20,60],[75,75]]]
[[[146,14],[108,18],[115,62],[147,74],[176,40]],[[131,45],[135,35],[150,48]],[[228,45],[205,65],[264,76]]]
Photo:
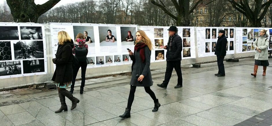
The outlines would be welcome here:
[[[199,57],[215,56],[215,46],[219,30],[225,30],[227,54],[234,54],[234,27],[196,27]]]

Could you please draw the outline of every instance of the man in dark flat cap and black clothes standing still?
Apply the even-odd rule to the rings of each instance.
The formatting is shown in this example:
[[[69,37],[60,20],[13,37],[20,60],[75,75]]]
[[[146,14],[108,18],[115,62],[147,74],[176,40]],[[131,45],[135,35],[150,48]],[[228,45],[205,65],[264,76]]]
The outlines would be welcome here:
[[[224,30],[219,30],[218,32],[218,40],[215,46],[215,55],[217,57],[217,65],[218,65],[218,73],[214,74],[217,77],[225,76],[225,68],[224,68],[224,57],[226,56],[226,47],[227,47],[227,38],[225,36]]]

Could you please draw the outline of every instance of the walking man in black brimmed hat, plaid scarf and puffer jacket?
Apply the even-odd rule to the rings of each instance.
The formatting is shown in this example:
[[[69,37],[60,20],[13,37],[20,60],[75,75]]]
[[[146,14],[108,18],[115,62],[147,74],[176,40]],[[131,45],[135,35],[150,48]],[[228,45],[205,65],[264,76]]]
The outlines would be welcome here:
[[[164,46],[164,49],[167,49],[166,52],[166,72],[164,81],[162,84],[157,84],[161,88],[167,88],[169,80],[172,75],[173,68],[177,72],[178,84],[175,88],[182,87],[182,75],[181,75],[181,51],[182,51],[182,40],[181,37],[177,34],[177,27],[171,26],[168,29],[169,39],[167,45]]]

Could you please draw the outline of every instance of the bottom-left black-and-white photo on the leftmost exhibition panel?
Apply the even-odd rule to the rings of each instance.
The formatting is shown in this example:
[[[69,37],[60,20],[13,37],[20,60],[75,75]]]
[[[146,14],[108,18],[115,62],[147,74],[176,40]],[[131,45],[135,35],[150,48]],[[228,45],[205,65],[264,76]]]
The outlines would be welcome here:
[[[0,76],[21,74],[21,61],[0,62]]]

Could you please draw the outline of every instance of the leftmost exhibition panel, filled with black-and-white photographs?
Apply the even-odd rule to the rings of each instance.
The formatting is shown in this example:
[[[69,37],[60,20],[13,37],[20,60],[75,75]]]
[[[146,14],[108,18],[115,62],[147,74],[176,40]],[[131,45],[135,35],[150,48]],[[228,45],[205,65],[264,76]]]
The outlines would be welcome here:
[[[0,79],[47,74],[43,24],[0,23]]]

